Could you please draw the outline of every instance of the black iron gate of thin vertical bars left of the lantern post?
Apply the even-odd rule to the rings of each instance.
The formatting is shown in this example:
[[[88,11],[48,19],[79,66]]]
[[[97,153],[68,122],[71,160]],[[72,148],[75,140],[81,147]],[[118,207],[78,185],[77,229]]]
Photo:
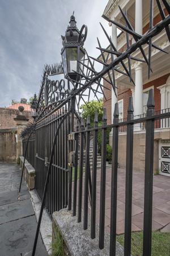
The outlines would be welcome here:
[[[68,202],[68,159],[69,142],[67,134],[70,133],[70,117],[67,115],[67,108],[50,115],[36,126],[36,191],[42,200],[46,175],[48,172],[50,155],[54,135],[59,128],[56,144],[54,145],[54,156],[52,159],[52,169],[49,176],[49,185],[46,193],[45,207],[50,216],[56,210],[67,206]]]

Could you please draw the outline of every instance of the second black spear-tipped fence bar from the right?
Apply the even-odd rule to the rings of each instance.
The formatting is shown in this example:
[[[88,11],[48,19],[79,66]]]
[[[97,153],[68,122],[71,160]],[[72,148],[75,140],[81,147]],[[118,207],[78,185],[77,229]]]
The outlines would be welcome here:
[[[128,117],[133,119],[133,98],[129,98]],[[124,255],[131,255],[131,201],[132,201],[132,177],[133,177],[133,124],[127,125],[126,137],[126,188],[125,188],[125,242]]]

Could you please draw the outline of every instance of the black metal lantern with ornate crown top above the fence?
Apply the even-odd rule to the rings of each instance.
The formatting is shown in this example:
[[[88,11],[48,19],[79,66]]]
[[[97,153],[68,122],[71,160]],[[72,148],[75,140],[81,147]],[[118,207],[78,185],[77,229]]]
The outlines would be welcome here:
[[[85,56],[83,48],[87,37],[87,26],[83,25],[79,31],[76,27],[75,16],[70,17],[70,26],[67,27],[65,36],[62,37],[63,48],[61,50],[63,71],[65,78],[70,78],[75,81],[80,80],[80,76],[75,73],[80,72],[80,63]],[[83,34],[84,30],[84,34]]]

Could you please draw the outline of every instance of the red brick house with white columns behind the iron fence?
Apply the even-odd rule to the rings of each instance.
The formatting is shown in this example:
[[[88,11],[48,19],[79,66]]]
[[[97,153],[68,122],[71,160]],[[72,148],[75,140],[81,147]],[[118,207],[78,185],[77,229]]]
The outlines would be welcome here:
[[[145,34],[149,28],[150,1],[147,0],[109,0],[104,10],[104,15],[118,23],[125,24],[124,18],[118,6],[122,10],[126,10],[128,19],[134,30],[138,34]],[[167,13],[165,13],[167,15]],[[154,1],[154,25],[159,23],[161,16],[158,6]],[[117,36],[117,27],[112,26],[112,41],[118,52],[126,50],[126,33],[121,32]],[[131,36],[130,44],[134,43]],[[169,41],[165,31],[152,39],[152,43],[170,52]],[[147,53],[148,46],[143,46]],[[133,53],[134,57],[143,59],[141,51]],[[129,97],[133,96],[134,118],[138,118],[146,113],[146,105],[148,99],[148,91],[154,89],[155,111],[169,111],[170,108],[170,65],[168,54],[152,48],[152,62],[150,79],[148,80],[148,66],[146,63],[131,60],[131,74],[135,81],[135,86],[129,81],[125,75],[116,74],[117,97],[113,90],[105,89],[104,106],[107,108],[108,122],[112,123],[114,104],[118,102],[120,118],[126,118],[128,110]],[[125,64],[126,61],[125,61]],[[110,87],[104,81],[104,85]],[[154,171],[160,174],[170,176],[170,120],[165,119],[155,124],[155,141],[154,141]],[[112,143],[112,132],[110,135],[110,143]],[[126,131],[120,130],[119,135],[120,154],[118,154],[118,163],[120,167],[125,167],[126,155],[122,154],[126,147]],[[139,124],[134,127],[134,169],[143,171],[145,168],[145,127]]]

